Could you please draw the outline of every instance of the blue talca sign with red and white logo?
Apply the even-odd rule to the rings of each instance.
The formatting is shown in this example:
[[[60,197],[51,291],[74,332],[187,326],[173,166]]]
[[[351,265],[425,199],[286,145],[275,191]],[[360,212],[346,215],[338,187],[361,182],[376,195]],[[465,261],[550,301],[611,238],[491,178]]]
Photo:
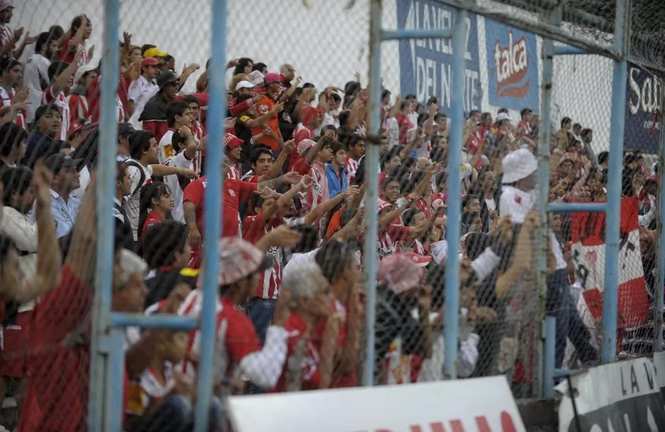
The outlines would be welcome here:
[[[540,108],[535,34],[485,19],[489,104],[510,110]]]

